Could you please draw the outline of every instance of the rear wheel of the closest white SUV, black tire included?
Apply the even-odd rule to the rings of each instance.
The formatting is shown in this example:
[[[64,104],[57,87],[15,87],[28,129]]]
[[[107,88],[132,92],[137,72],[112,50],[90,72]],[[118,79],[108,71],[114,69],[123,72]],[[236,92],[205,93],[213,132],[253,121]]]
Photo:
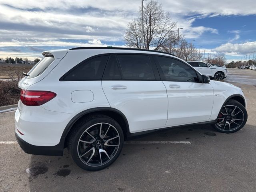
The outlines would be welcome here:
[[[99,129],[98,127],[101,127],[100,124],[102,124],[103,126],[106,125],[105,130],[101,130],[101,128],[100,128],[101,133],[98,130]],[[110,125],[110,126],[108,127],[108,130],[107,130],[108,125]],[[91,130],[96,134],[92,135],[93,132],[90,132]],[[98,130],[98,133],[97,133],[97,130]],[[100,136],[99,136],[99,133],[102,136],[102,131],[104,131],[103,139],[100,138]],[[88,134],[88,132],[90,134]],[[108,138],[109,134],[111,135],[110,138],[111,137],[113,138],[114,135],[118,135],[119,138],[112,139],[112,140],[108,141],[107,139],[109,139]],[[88,144],[87,143],[88,139],[86,139],[86,138],[90,138],[92,141],[94,141],[96,139],[96,141]],[[84,140],[84,141],[81,141],[81,140]],[[117,140],[119,140],[119,142],[117,142]],[[101,141],[100,146],[96,145],[96,142],[98,142],[98,141]],[[117,144],[119,144],[118,148],[117,148],[117,146],[109,146],[108,144],[107,144],[108,146],[106,146],[106,142],[108,143],[108,142],[113,142],[113,141],[115,141],[115,142],[117,142]],[[114,119],[112,119],[108,116],[105,116],[105,115],[101,115],[101,114],[91,115],[91,116],[84,118],[81,122],[79,122],[78,124],[75,125],[75,127],[73,128],[73,130],[68,138],[68,150],[70,152],[72,159],[80,168],[82,168],[84,170],[88,170],[88,171],[102,170],[102,169],[110,166],[110,164],[112,164],[120,155],[123,144],[124,144],[124,134],[123,134],[123,131],[122,131],[122,128],[120,127],[120,125]],[[88,155],[87,159],[86,159],[86,155],[82,156],[82,154],[83,154],[82,152],[81,152],[81,154],[79,154],[80,151],[83,150],[83,148],[84,148],[83,153]],[[90,150],[90,148],[92,148],[92,150]],[[94,150],[93,150],[93,148],[94,148]],[[112,148],[114,150],[112,150]],[[100,150],[102,150],[102,151],[104,150],[106,153],[105,152],[102,153],[102,152],[100,152]],[[88,152],[86,152],[86,151],[88,151]],[[110,154],[108,154],[108,151],[110,151]],[[111,153],[112,151],[113,151],[113,154]],[[106,159],[105,164],[103,164],[103,160],[104,160],[103,156],[105,157],[104,159]],[[110,159],[110,157],[111,157],[111,159]],[[99,158],[99,160],[97,160],[97,158]],[[88,160],[88,162],[86,164],[87,160]]]

